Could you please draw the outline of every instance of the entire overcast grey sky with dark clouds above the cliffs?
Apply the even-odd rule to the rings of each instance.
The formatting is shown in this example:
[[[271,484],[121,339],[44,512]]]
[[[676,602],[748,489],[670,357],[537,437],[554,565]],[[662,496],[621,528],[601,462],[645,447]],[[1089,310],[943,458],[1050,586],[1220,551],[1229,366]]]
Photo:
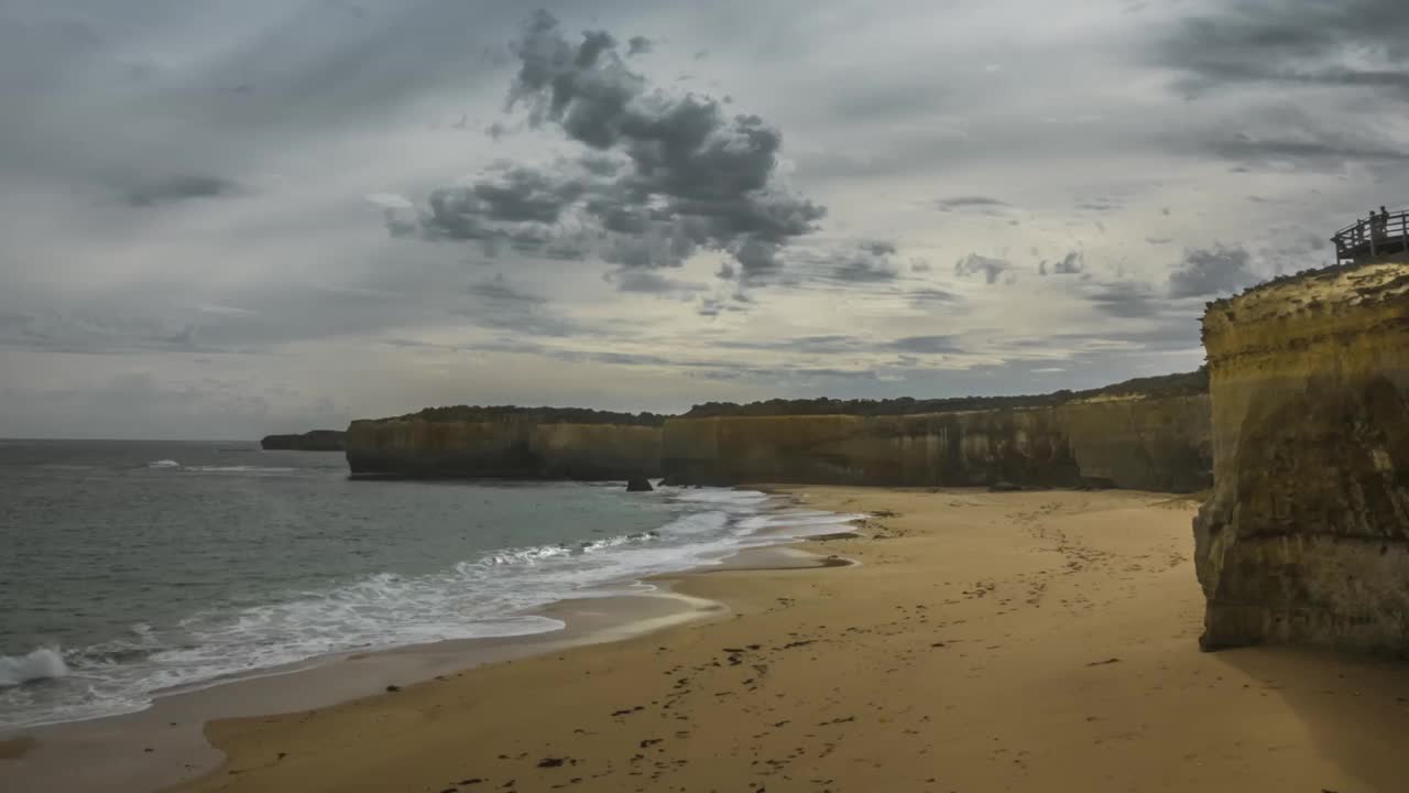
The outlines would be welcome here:
[[[0,0],[0,436],[1189,371],[1409,203],[1402,0]]]

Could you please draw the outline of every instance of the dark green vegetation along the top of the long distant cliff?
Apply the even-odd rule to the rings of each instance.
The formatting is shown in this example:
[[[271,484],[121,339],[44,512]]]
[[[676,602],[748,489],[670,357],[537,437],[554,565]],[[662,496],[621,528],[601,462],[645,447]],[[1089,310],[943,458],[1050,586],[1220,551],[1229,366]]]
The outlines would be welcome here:
[[[944,413],[955,411],[995,411],[1003,408],[1053,408],[1068,402],[1113,396],[1192,396],[1209,392],[1206,367],[1182,374],[1138,377],[1086,391],[1055,391],[1027,396],[954,396],[948,399],[768,399],[738,405],[706,402],[690,408],[686,418],[710,416],[900,416],[909,413]]]

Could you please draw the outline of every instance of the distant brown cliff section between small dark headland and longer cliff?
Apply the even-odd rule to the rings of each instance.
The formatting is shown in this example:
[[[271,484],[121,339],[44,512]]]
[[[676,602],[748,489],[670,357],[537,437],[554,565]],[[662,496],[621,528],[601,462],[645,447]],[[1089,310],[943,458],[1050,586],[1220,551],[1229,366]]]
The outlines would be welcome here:
[[[661,476],[661,416],[430,408],[348,426],[354,474],[626,480]]]

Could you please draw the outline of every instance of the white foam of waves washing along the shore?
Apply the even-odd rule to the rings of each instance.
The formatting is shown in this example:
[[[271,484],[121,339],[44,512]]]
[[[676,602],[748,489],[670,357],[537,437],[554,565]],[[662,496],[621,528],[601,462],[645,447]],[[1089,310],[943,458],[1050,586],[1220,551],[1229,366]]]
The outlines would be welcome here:
[[[6,689],[0,725],[130,713],[148,707],[154,691],[210,686],[234,673],[334,653],[557,631],[561,621],[533,615],[533,610],[600,594],[604,587],[630,587],[654,574],[717,564],[779,536],[858,518],[803,509],[759,515],[772,507],[772,497],[755,491],[668,487],[657,497],[690,511],[654,532],[502,549],[435,573],[378,573],[294,593],[280,603],[211,608],[176,625],[138,624],[118,639],[65,656],[39,649],[0,659],[0,684],[6,676],[68,674],[65,684],[77,691],[55,700],[45,698],[42,686]]]

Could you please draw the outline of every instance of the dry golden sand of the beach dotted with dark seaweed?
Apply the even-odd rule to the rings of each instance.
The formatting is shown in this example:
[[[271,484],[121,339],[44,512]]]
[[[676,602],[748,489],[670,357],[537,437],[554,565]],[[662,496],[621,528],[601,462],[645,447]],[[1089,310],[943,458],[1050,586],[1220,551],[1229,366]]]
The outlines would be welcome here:
[[[1195,504],[793,488],[854,566],[682,576],[727,610],[314,711],[216,721],[182,792],[1409,789],[1409,670],[1200,653]]]

